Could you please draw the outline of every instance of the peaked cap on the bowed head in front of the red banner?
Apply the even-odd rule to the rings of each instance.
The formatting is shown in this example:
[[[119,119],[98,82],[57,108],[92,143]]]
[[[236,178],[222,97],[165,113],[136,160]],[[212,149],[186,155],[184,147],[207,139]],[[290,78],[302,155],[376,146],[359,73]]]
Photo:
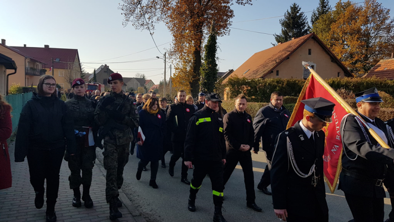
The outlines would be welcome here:
[[[332,112],[335,104],[322,97],[312,98],[301,101],[305,104],[304,109],[315,114],[321,121],[331,123]]]

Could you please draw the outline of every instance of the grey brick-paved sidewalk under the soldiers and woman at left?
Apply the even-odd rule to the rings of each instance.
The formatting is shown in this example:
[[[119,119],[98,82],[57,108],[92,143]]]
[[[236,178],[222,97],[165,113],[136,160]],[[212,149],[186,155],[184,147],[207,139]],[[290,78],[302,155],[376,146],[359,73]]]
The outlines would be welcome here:
[[[0,190],[0,221],[45,221],[46,203],[41,209],[35,208],[35,194],[30,185],[27,159],[21,163],[14,161],[14,144],[15,142],[10,143],[9,147],[12,187]],[[109,205],[105,199],[105,173],[105,169],[100,164],[93,167],[90,196],[94,206],[87,209],[82,203],[81,207],[76,208],[71,205],[73,191],[70,190],[68,182],[70,170],[67,162],[63,160],[60,170],[59,197],[55,207],[57,221],[111,221],[109,219]],[[82,186],[80,189],[82,192]],[[145,219],[131,205],[130,200],[122,191],[120,191],[119,198],[123,202],[123,206],[119,208],[123,217],[113,221],[145,222]],[[46,197],[44,199],[46,200]]]

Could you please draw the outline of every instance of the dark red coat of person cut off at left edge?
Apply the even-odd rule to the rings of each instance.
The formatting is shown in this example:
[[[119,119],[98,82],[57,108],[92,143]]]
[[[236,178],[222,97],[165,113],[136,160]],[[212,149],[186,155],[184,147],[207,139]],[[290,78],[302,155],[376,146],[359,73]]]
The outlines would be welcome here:
[[[7,139],[12,133],[10,107],[5,106],[0,112],[0,190],[12,186],[11,162],[8,152]]]

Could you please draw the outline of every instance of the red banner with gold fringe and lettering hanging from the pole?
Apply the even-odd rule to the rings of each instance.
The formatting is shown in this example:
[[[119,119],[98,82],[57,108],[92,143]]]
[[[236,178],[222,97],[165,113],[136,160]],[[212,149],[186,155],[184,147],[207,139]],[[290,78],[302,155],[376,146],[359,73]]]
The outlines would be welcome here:
[[[323,97],[324,99],[335,103],[332,123],[327,124],[327,126],[323,128],[326,135],[326,141],[324,146],[324,155],[322,157],[324,160],[324,178],[331,193],[334,193],[342,167],[342,138],[339,129],[340,122],[343,116],[348,114],[348,112],[341,103],[332,96],[331,92],[333,92],[331,87],[324,87],[324,85],[314,77],[314,74],[311,73],[303,87],[300,97],[298,98],[297,104],[295,104],[293,113],[291,114],[290,120],[287,124],[287,128],[303,119],[304,104],[301,103],[301,100]]]

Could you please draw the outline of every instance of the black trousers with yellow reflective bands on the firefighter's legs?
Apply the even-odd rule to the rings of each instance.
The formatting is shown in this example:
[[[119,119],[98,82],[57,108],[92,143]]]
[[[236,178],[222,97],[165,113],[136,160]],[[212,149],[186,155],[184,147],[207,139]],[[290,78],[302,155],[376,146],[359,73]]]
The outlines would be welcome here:
[[[197,161],[193,162],[193,178],[190,182],[190,194],[197,193],[205,176],[208,174],[212,184],[213,202],[215,207],[223,204],[223,162],[218,161]]]

